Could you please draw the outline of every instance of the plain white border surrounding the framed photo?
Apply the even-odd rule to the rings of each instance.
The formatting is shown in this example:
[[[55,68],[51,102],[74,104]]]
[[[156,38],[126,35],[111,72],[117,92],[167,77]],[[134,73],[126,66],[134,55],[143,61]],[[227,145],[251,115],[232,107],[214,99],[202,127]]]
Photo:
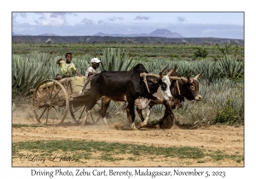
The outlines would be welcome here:
[[[4,8],[1,13],[1,39],[2,39],[2,85],[1,85],[1,176],[3,178],[23,177],[32,178],[31,170],[33,168],[12,168],[11,167],[11,12],[12,11],[244,11],[245,12],[245,72],[246,72],[246,94],[245,94],[245,167],[241,168],[196,168],[198,170],[225,170],[227,176],[225,178],[243,177],[249,176],[249,178],[255,177],[254,175],[254,159],[255,154],[253,149],[255,148],[255,142],[253,140],[255,119],[253,118],[253,78],[255,75],[255,66],[253,61],[255,60],[255,10],[252,1],[242,2],[234,0],[226,1],[9,1],[4,3]],[[108,8],[106,8],[108,7]],[[7,64],[7,67],[5,65]],[[247,84],[247,82],[251,82]],[[255,92],[254,92],[255,93]],[[36,168],[38,169],[38,168]],[[48,168],[49,169],[49,168]],[[65,168],[61,168],[65,169]],[[68,169],[68,168],[67,168]],[[99,168],[96,168],[99,169]],[[129,169],[125,168],[124,170]],[[134,168],[130,168],[133,170]],[[143,169],[143,168],[142,168]],[[173,170],[174,168],[170,168]],[[178,168],[175,168],[178,169]],[[194,168],[180,168],[180,170],[193,170]],[[73,169],[75,170],[75,169]],[[93,170],[93,169],[91,169]],[[108,169],[107,169],[108,170]],[[122,168],[117,168],[122,170]],[[160,168],[154,168],[154,170],[161,170]],[[251,177],[250,177],[251,176]],[[42,176],[44,177],[44,176]],[[45,176],[49,177],[49,176]],[[57,177],[57,176],[56,176]],[[54,177],[54,178],[56,178]],[[83,176],[82,176],[83,177]],[[142,176],[143,177],[143,176]],[[148,176],[150,177],[150,176]],[[117,177],[116,177],[117,178]],[[132,177],[136,178],[136,177]],[[146,177],[144,177],[146,178]],[[195,177],[193,177],[195,178]]]

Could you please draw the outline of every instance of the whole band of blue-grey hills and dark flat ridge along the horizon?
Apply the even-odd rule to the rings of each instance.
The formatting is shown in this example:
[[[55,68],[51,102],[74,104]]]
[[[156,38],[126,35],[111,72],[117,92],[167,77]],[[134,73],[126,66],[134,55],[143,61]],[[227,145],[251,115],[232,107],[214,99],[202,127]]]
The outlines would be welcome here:
[[[157,29],[150,33],[140,34],[107,34],[98,32],[94,36],[58,36],[54,33],[43,33],[38,36],[12,33],[13,43],[194,43],[194,44],[243,44],[242,39],[230,38],[185,38],[177,32]]]

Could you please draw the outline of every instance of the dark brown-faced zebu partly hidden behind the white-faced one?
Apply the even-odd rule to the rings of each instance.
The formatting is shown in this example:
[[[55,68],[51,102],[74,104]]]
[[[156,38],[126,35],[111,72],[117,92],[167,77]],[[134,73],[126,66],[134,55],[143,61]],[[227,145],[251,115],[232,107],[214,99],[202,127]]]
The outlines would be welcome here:
[[[174,70],[173,70],[174,69]],[[172,93],[172,100],[170,101],[150,101],[148,106],[151,108],[156,104],[164,104],[166,107],[165,114],[163,118],[160,118],[158,124],[156,124],[156,128],[160,128],[160,124],[164,122],[164,120],[170,115],[172,118],[172,126],[175,126],[175,116],[172,112],[172,109],[182,107],[182,102],[184,98],[189,101],[201,101],[202,97],[199,93],[199,83],[198,78],[201,76],[202,72],[195,76],[195,78],[190,78],[190,74],[187,78],[181,78],[181,75],[176,72],[176,66],[172,69],[172,72],[167,72],[167,75],[170,75],[171,78],[177,77],[177,79],[172,80],[172,84],[170,86]],[[144,121],[142,110],[137,108],[137,113],[142,121]],[[143,126],[139,126],[143,127]]]

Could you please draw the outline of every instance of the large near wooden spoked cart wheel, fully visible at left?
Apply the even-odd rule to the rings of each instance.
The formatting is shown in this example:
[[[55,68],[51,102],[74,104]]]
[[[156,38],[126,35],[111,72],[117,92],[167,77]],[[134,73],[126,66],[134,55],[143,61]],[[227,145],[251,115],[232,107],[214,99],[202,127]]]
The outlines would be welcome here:
[[[69,107],[67,90],[55,80],[38,84],[32,97],[32,111],[38,124],[59,125],[67,117]]]

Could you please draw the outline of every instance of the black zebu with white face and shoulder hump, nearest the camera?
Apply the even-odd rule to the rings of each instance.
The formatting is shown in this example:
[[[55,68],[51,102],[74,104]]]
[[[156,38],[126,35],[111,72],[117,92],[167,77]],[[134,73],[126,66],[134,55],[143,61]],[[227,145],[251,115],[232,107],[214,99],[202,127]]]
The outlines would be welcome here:
[[[142,64],[138,64],[128,72],[101,72],[96,74],[90,81],[90,103],[86,107],[86,113],[81,125],[85,124],[87,116],[97,100],[102,99],[100,115],[105,124],[108,124],[106,111],[109,102],[111,100],[127,101],[127,118],[131,121],[131,128],[136,130],[134,105],[143,110],[147,108],[151,100],[169,101],[172,97],[170,79],[162,75],[164,69],[160,71],[158,76],[149,74]],[[148,75],[146,77],[141,73]],[[150,112],[148,108],[146,111],[147,113]]]

